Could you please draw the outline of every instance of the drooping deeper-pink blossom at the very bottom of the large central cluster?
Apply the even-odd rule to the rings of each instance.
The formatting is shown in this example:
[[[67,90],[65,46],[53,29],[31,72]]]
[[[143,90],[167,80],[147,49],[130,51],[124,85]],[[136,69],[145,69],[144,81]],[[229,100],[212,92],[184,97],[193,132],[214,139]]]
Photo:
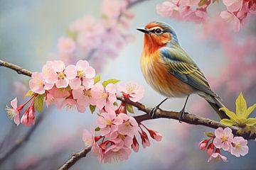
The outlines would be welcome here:
[[[112,145],[105,152],[104,162],[124,161],[128,159],[129,154],[131,154],[131,150],[128,147],[119,148],[117,145]]]

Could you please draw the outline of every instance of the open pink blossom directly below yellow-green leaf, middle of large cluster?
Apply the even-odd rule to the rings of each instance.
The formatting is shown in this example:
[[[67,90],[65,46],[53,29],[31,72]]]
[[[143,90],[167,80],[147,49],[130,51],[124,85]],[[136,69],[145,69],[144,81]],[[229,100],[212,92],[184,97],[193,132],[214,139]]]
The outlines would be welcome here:
[[[114,84],[107,84],[106,88],[102,84],[97,83],[91,90],[92,98],[95,99],[97,108],[102,110],[105,107],[111,107],[114,101],[117,101],[116,90]]]

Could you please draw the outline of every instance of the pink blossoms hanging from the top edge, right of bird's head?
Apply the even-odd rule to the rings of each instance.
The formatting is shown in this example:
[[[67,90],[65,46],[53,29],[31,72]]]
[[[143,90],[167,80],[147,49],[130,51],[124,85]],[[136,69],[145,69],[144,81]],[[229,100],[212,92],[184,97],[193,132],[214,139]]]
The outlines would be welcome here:
[[[170,0],[156,6],[156,11],[164,17],[174,18],[178,21],[191,21],[205,23],[208,18],[208,6],[216,0]],[[240,30],[248,14],[256,13],[254,0],[223,0],[227,11],[220,13],[221,18],[233,25],[233,30]]]

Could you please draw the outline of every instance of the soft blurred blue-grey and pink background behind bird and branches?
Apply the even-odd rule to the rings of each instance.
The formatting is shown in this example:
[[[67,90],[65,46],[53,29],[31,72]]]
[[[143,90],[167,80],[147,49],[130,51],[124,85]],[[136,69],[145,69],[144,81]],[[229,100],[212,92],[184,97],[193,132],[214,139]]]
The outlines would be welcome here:
[[[120,1],[0,0],[0,59],[32,72],[41,72],[47,60],[65,60],[67,64],[75,64],[79,59],[89,60],[102,80],[114,78],[142,84],[146,91],[142,103],[154,107],[164,97],[144,81],[139,66],[143,35],[136,28],[151,21],[164,21],[176,30],[181,46],[230,110],[235,110],[235,98],[240,91],[247,106],[256,102],[256,20],[253,16],[235,33],[219,23],[220,18],[215,18],[216,13],[223,11],[221,3],[210,6],[208,23],[200,25],[162,18],[156,13],[156,4],[163,1],[125,1],[128,5],[124,7]],[[116,15],[108,16],[116,9],[122,12],[119,10],[114,13]],[[88,45],[75,56],[60,56],[59,38],[67,36],[72,23],[83,17],[101,23],[110,34],[98,35],[100,45],[97,47]],[[88,44],[95,42],[87,40]],[[108,48],[108,45],[112,46]],[[22,102],[28,90],[28,79],[0,67],[0,169],[57,169],[73,152],[85,147],[82,130],[93,125],[95,115],[90,111],[58,111],[52,106],[44,108],[40,115],[36,113],[37,118],[41,117],[36,125],[17,127],[7,118],[4,108],[15,96]],[[172,98],[162,108],[180,111],[184,101],[185,98]],[[207,103],[196,95],[189,98],[186,111],[218,120]],[[137,111],[136,114],[141,113]],[[255,117],[255,113],[252,116]],[[223,152],[228,163],[207,163],[208,156],[198,149],[198,142],[203,140],[203,132],[213,132],[212,129],[165,119],[149,120],[145,124],[161,132],[163,140],[151,140],[151,147],[140,147],[138,153],[132,152],[124,162],[101,164],[90,153],[71,169],[254,169],[254,141],[249,142],[249,154],[245,157],[237,158]]]

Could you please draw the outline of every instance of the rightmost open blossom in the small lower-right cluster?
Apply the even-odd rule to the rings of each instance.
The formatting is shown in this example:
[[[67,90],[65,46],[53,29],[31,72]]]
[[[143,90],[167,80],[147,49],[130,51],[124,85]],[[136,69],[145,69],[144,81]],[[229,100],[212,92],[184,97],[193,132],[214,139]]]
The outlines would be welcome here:
[[[240,157],[240,155],[245,156],[249,151],[249,147],[247,146],[247,140],[243,137],[234,137],[232,140],[232,145],[230,149],[230,153],[235,155],[235,157]]]

